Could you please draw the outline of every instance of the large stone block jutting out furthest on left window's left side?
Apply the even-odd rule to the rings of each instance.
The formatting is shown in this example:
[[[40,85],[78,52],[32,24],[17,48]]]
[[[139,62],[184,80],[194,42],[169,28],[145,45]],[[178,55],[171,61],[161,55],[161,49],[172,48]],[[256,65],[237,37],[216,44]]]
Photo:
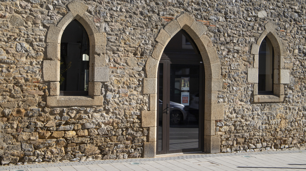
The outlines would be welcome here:
[[[58,60],[44,60],[43,77],[45,81],[59,81],[60,64]]]

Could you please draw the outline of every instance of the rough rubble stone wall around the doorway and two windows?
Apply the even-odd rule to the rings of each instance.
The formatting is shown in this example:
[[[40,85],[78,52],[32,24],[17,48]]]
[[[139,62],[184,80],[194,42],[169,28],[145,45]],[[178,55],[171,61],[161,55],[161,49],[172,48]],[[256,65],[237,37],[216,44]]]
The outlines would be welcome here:
[[[2,165],[154,157],[148,142],[154,146],[156,141],[156,97],[144,92],[143,84],[155,73],[146,72],[147,59],[158,48],[161,29],[183,13],[207,28],[203,34],[220,60],[222,91],[216,99],[224,106],[224,118],[211,124],[221,138],[220,152],[305,148],[304,1],[82,1],[84,8],[77,10],[91,23],[84,26],[87,32],[105,35],[105,49],[96,48],[91,59],[102,59],[97,67],[108,68],[109,81],[94,87],[92,95],[101,97],[98,105],[54,106],[47,97],[56,97],[57,90],[43,71],[44,61],[51,60],[47,34],[69,12],[79,17],[69,2],[0,2]],[[279,102],[257,103],[256,83],[248,81],[249,69],[256,68],[251,49],[268,22],[275,24],[290,83],[282,84]],[[147,115],[153,118],[150,124],[144,124]]]

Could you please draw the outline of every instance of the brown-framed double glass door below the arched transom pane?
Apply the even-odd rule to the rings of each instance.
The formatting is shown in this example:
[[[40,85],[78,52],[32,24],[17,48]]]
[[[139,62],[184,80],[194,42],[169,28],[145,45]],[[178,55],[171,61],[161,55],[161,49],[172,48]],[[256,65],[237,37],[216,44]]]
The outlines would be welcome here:
[[[202,150],[203,63],[160,60],[156,154]]]

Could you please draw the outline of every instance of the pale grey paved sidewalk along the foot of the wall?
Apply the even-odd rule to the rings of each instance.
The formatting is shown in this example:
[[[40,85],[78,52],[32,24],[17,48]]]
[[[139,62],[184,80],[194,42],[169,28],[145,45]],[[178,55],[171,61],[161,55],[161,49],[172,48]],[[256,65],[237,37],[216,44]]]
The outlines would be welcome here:
[[[133,165],[133,162],[138,162],[140,165]],[[0,166],[0,170],[18,169],[26,171],[306,170],[306,150],[181,154],[157,158]]]

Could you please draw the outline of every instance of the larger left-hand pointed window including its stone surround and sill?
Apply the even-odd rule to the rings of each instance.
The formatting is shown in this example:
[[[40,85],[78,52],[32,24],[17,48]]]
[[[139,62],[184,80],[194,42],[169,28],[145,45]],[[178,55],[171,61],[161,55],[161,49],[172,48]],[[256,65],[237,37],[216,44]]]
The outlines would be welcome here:
[[[101,106],[101,85],[109,81],[106,34],[97,30],[82,1],[71,1],[67,7],[70,11],[47,32],[42,69],[49,83],[47,105]]]

